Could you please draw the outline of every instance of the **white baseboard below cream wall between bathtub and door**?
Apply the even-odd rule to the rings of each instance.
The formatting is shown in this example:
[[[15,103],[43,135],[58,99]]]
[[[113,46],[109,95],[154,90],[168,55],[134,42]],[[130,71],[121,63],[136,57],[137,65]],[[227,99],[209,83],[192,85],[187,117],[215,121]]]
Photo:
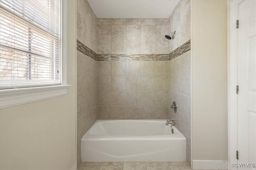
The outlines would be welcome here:
[[[193,169],[227,170],[228,161],[225,160],[192,160]]]

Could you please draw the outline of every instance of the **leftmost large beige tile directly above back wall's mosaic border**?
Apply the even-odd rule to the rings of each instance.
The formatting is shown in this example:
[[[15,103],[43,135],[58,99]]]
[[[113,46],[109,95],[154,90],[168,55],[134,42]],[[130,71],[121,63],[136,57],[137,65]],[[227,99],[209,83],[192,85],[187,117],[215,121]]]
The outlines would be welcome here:
[[[98,25],[98,54],[111,54],[111,25]]]

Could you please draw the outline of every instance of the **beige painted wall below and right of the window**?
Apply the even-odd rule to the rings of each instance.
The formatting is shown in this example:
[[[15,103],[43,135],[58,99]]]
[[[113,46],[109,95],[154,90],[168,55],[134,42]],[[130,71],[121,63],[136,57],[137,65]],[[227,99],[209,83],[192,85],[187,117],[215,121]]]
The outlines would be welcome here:
[[[76,162],[76,1],[68,1],[65,96],[0,110],[0,169],[70,169]]]

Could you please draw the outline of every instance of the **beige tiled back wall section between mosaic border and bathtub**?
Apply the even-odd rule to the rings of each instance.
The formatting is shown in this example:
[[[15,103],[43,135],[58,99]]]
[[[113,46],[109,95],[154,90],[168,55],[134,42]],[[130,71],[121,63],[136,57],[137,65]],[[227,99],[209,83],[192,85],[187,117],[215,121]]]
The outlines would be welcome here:
[[[166,119],[168,61],[98,61],[97,119]]]

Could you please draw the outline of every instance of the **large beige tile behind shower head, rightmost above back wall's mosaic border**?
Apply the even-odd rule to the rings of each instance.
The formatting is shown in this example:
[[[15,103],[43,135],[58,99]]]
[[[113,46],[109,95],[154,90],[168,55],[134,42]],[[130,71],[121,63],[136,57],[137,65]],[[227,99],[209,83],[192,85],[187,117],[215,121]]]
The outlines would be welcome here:
[[[156,53],[167,54],[170,40],[164,36],[168,34],[168,25],[156,25]]]

